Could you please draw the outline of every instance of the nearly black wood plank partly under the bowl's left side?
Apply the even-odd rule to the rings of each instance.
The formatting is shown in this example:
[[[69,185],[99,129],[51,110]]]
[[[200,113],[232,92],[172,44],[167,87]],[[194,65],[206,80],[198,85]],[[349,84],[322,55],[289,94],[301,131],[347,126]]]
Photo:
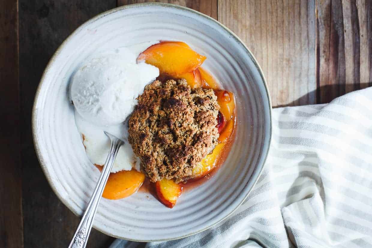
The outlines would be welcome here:
[[[36,87],[62,41],[90,17],[114,7],[115,0],[19,1],[25,247],[67,247],[80,221],[52,192],[36,158],[30,123]],[[108,247],[112,241],[113,238],[93,230],[87,246]]]

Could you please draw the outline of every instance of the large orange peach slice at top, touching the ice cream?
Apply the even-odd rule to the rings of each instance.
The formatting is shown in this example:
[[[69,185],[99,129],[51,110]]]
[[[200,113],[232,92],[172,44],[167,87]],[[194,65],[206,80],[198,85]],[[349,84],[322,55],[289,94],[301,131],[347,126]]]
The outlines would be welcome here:
[[[160,74],[178,77],[196,70],[206,59],[183,42],[164,41],[154,44],[143,51],[137,62],[145,61],[159,68]]]

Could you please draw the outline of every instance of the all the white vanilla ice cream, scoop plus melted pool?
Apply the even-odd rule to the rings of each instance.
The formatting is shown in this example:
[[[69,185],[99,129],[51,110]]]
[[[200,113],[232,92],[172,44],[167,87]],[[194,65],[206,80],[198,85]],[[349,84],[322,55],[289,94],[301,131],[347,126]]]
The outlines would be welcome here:
[[[70,98],[76,110],[75,122],[93,164],[103,165],[109,154],[110,141],[104,130],[127,140],[125,120],[137,104],[135,98],[159,75],[153,65],[136,63],[139,53],[154,43],[157,42],[93,55],[74,74]],[[112,172],[131,170],[136,164],[138,159],[126,141],[119,149]]]

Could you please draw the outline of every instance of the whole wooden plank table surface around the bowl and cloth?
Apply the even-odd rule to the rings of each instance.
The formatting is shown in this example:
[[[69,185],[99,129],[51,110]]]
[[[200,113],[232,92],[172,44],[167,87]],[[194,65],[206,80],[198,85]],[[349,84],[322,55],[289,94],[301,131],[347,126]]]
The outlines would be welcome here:
[[[1,0],[0,247],[66,247],[78,224],[33,148],[31,110],[54,51],[81,23],[141,0]],[[372,85],[372,0],[169,0],[235,32],[266,75],[273,107],[327,103]],[[88,247],[113,238],[93,231]]]

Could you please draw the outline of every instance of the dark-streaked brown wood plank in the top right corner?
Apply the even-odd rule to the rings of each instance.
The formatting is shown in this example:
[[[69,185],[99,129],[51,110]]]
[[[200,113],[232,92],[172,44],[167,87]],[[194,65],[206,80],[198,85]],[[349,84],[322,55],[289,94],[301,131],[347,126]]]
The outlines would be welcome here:
[[[317,102],[372,85],[372,1],[317,1]]]

